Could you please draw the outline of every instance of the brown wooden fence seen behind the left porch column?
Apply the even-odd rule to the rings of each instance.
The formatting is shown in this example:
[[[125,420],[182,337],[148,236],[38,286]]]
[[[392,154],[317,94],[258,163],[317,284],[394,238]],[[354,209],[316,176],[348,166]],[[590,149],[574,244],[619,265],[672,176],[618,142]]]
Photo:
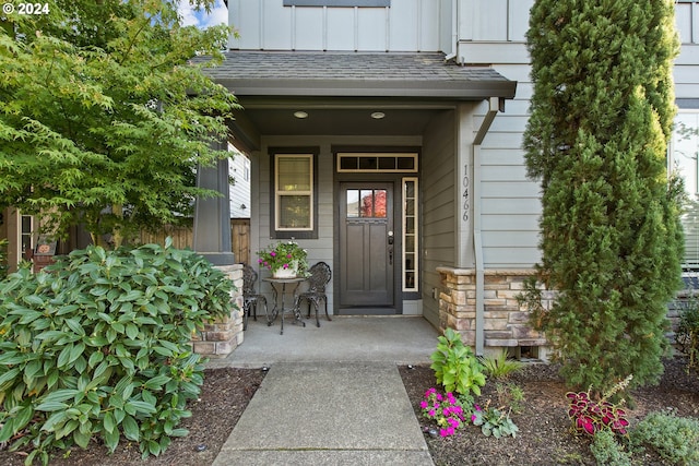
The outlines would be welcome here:
[[[194,243],[193,231],[191,226],[166,226],[157,234],[142,231],[139,242],[142,244],[153,242],[158,244],[165,243],[165,238],[173,238],[175,248],[185,249],[192,248]],[[230,219],[230,243],[232,252],[236,255],[236,262],[245,264],[250,263],[250,219],[232,218]]]

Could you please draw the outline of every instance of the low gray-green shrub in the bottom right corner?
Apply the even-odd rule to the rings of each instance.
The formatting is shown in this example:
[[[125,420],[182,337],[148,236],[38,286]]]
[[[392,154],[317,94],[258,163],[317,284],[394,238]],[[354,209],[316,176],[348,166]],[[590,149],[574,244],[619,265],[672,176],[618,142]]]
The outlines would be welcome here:
[[[629,432],[633,447],[651,449],[672,465],[699,464],[699,421],[654,411]]]

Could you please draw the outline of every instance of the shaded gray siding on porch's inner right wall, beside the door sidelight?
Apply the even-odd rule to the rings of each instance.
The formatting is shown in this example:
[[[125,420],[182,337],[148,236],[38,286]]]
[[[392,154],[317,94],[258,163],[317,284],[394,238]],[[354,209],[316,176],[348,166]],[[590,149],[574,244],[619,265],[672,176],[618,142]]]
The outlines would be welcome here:
[[[439,327],[439,302],[433,289],[441,289],[438,266],[455,264],[454,112],[435,119],[423,138],[423,315]],[[439,297],[438,297],[439,298]]]

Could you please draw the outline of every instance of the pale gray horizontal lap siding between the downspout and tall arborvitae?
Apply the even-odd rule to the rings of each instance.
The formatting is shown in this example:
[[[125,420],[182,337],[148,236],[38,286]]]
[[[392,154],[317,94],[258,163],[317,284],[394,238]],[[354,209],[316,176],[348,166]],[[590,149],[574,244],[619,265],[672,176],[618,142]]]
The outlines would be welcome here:
[[[508,27],[510,34],[521,33],[519,26]],[[526,177],[522,150],[532,95],[526,48],[523,43],[462,43],[461,51],[465,62],[490,64],[518,82],[514,99],[506,101],[481,148],[481,230],[486,268],[529,268],[541,258],[541,189]],[[482,118],[485,106],[478,110]]]

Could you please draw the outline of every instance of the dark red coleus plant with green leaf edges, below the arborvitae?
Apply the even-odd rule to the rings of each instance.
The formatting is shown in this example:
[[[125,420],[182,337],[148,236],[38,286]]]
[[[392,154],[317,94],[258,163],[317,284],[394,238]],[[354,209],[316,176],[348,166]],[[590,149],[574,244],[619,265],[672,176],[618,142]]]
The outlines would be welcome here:
[[[593,399],[590,390],[587,392],[569,392],[568,417],[572,421],[572,428],[580,433],[594,435],[602,430],[625,435],[629,421],[626,419],[626,410],[621,408],[624,401],[618,404],[609,402],[609,398],[618,391],[624,390],[631,381],[631,375],[614,385],[602,398]]]

